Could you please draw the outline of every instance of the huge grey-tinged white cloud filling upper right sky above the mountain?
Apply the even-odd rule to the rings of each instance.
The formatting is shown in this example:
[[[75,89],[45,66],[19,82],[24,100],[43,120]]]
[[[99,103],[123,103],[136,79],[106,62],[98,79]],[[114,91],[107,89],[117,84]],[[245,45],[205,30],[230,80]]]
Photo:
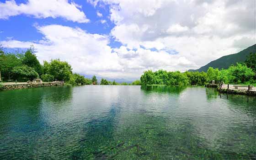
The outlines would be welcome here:
[[[97,0],[94,4],[100,3],[110,6],[110,20],[116,24],[111,35],[117,41],[130,49],[176,50],[195,63],[194,68],[256,43],[253,0]]]

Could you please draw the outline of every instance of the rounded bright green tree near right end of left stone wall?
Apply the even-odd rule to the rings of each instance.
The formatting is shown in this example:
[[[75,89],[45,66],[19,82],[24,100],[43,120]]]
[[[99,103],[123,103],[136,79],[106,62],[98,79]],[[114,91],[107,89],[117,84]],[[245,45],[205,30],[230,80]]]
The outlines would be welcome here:
[[[44,74],[53,75],[57,80],[69,81],[72,75],[72,68],[68,62],[59,59],[52,59],[50,63],[44,61],[43,67]]]

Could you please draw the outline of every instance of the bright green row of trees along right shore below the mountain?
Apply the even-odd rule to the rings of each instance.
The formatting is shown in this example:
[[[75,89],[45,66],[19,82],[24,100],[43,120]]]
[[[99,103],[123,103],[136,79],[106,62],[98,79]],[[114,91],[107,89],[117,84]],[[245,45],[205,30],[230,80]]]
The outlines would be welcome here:
[[[215,80],[216,83],[256,84],[256,53],[251,53],[245,63],[231,65],[228,69],[208,68],[205,72],[168,72],[147,70],[141,75],[141,85],[206,85]]]

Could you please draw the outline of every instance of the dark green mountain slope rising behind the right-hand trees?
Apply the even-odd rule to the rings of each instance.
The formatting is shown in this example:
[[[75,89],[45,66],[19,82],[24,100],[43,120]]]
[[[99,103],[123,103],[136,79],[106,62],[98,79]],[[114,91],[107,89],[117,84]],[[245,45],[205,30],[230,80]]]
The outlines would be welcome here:
[[[245,60],[247,59],[247,56],[250,53],[256,53],[256,44],[242,50],[239,53],[230,54],[230,55],[227,55],[227,56],[223,56],[219,59],[216,59],[216,60],[206,64],[205,66],[203,66],[199,69],[190,69],[188,71],[192,71],[192,72],[196,72],[196,71],[202,72],[202,71],[204,71],[204,72],[207,72],[209,67],[218,68],[218,69],[228,69],[231,64],[236,64],[237,62],[240,62],[240,63],[245,62]]]

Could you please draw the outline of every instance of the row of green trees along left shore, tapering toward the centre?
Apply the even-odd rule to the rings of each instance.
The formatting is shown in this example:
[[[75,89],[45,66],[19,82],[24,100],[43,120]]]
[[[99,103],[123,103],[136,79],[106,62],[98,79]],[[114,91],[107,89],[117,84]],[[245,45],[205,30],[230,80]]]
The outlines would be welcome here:
[[[83,75],[72,72],[71,65],[60,59],[52,59],[51,61],[43,61],[43,65],[39,63],[33,46],[22,53],[7,53],[0,48],[0,81],[19,82],[41,78],[44,82],[65,81],[71,85],[140,85],[140,80],[134,81],[132,84],[123,82],[121,84],[114,81],[101,79],[98,84],[96,76],[92,79],[85,78]]]

